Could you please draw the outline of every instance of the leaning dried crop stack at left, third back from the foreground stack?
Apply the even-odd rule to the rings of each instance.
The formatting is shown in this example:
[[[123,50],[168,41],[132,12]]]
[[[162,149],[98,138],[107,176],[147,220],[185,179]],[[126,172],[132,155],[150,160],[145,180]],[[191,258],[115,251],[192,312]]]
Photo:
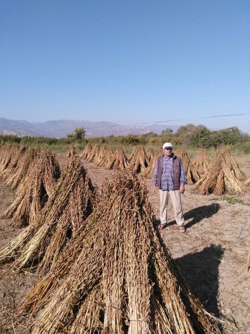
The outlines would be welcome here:
[[[18,227],[31,224],[52,195],[60,167],[55,155],[38,152],[30,162],[25,179],[16,191],[12,205],[4,212],[3,218],[12,217]]]

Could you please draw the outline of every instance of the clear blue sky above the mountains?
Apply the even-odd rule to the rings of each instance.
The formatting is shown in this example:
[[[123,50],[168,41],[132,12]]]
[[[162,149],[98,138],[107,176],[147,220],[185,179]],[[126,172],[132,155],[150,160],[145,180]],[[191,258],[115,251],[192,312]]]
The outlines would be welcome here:
[[[1,0],[0,117],[250,133],[249,0]]]

